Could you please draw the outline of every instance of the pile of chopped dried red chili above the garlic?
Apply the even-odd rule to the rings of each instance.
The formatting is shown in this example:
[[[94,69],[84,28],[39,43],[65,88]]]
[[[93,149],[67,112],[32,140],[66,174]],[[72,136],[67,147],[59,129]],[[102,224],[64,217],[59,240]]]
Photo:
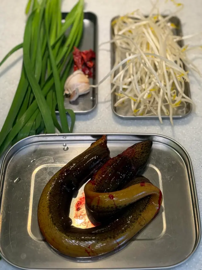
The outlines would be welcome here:
[[[95,52],[92,49],[81,52],[78,48],[74,47],[73,59],[74,71],[80,69],[84,74],[88,75],[89,78],[92,78],[92,69],[94,67],[92,60],[95,59]]]

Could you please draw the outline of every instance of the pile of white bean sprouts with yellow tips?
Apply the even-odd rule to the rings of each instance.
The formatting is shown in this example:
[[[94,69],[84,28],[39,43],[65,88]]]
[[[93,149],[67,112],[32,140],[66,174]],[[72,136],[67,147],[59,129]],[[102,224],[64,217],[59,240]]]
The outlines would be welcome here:
[[[194,106],[185,94],[186,70],[200,71],[186,55],[188,46],[179,45],[188,37],[174,35],[174,15],[161,16],[154,5],[149,16],[136,10],[112,22],[115,63],[107,76],[117,96],[115,107],[128,106],[127,100],[133,115],[158,116],[161,123],[169,116],[173,124],[176,110],[183,114],[187,103]]]

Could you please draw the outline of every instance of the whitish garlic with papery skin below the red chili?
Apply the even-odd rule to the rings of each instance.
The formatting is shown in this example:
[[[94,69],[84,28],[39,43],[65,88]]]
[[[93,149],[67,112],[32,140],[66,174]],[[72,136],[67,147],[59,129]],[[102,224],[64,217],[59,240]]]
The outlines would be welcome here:
[[[76,70],[66,79],[64,90],[64,95],[70,94],[70,101],[75,101],[79,96],[89,93],[89,79],[81,70]]]

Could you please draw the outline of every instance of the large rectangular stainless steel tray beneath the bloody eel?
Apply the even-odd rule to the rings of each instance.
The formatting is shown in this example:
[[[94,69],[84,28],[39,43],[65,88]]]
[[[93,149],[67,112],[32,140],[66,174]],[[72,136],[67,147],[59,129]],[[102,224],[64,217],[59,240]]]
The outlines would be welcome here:
[[[179,265],[194,253],[201,225],[191,160],[180,144],[155,134],[107,134],[111,156],[138,141],[153,140],[144,175],[163,193],[162,208],[154,220],[126,247],[102,259],[72,259],[46,244],[37,223],[41,192],[57,170],[100,136],[33,136],[7,152],[0,174],[0,253],[7,262],[23,269],[156,269]]]

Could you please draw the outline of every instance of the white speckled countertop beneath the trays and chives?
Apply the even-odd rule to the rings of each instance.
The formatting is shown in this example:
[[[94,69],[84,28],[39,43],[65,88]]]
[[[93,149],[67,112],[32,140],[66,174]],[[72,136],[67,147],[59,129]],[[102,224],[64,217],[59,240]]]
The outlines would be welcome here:
[[[75,4],[75,0],[63,1],[63,11],[68,11]],[[174,10],[172,3],[161,0],[161,11]],[[182,0],[184,9],[179,16],[183,34],[189,35],[201,32],[202,29],[202,2],[201,0]],[[27,0],[1,0],[0,1],[0,60],[15,45],[22,42],[25,27],[25,6]],[[147,14],[151,9],[149,0],[86,0],[86,10],[94,12],[98,16],[99,43],[110,39],[110,20],[112,17],[139,8]],[[186,44],[202,45],[202,35],[187,40]],[[109,49],[110,45],[104,45]],[[202,51],[201,51],[202,53]],[[191,54],[191,59],[195,58]],[[22,50],[18,51],[0,68],[0,128],[10,108],[16,87],[19,81],[22,64]],[[195,59],[195,64],[202,72],[202,57]],[[99,80],[110,71],[110,52],[99,51]],[[77,116],[74,132],[137,132],[158,133],[177,140],[188,151],[195,173],[198,192],[200,213],[202,214],[202,79],[189,74],[192,99],[196,104],[196,112],[185,119],[175,120],[172,127],[167,120],[161,125],[158,120],[122,120],[115,116],[111,110],[110,96],[104,102],[110,92],[109,79],[98,89],[98,106],[88,115]],[[186,239],[185,239],[186,241]],[[0,261],[1,270],[14,270],[4,260]],[[183,265],[173,268],[176,270],[201,270],[202,269],[202,244],[195,254]]]

